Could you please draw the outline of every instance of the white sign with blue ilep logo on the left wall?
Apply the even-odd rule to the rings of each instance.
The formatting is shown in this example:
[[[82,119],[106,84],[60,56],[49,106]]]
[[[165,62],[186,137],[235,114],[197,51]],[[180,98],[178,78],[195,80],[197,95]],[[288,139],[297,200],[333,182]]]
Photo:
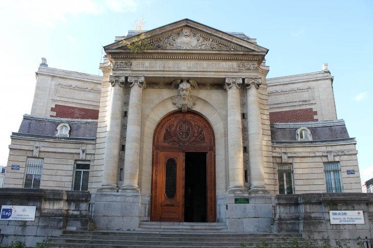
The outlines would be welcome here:
[[[35,220],[36,206],[3,205],[0,220]]]

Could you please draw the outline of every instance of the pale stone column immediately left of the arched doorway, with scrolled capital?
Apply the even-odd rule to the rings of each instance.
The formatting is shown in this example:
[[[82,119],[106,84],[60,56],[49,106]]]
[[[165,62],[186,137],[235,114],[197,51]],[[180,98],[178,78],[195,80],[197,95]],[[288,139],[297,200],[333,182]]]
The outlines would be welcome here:
[[[138,190],[138,167],[141,145],[141,115],[143,109],[144,76],[129,76],[131,93],[128,105],[126,155],[124,157],[124,179],[122,189]]]

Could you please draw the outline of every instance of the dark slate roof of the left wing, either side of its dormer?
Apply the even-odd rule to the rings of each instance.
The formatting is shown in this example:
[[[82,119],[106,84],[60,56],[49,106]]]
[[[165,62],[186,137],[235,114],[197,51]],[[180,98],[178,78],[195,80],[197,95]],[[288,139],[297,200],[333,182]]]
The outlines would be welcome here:
[[[55,121],[23,119],[18,133],[56,136],[57,126],[60,124]],[[68,125],[70,126],[70,137],[96,138],[97,123],[68,123]]]

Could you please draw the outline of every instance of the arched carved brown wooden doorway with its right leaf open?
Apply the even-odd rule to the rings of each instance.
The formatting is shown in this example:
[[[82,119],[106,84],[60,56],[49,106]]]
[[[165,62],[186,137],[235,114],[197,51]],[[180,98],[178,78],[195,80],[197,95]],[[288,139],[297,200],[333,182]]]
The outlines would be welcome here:
[[[153,136],[151,221],[215,222],[215,135],[200,115],[176,112]]]

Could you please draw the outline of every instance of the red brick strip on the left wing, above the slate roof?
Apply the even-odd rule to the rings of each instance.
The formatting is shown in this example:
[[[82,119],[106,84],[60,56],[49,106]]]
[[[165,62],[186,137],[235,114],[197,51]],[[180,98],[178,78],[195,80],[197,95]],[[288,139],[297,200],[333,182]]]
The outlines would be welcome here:
[[[56,112],[56,115],[51,115],[51,117],[92,120],[99,119],[99,110],[96,109],[85,109],[56,104],[54,108],[51,108],[51,111]]]

